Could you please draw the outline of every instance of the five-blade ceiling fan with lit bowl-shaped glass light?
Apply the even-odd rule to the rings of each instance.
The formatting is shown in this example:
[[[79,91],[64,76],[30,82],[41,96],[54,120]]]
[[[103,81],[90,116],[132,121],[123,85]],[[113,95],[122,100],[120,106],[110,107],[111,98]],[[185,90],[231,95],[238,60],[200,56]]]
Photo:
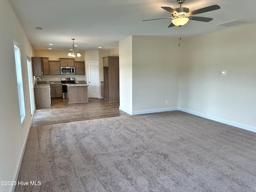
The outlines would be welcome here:
[[[161,7],[164,10],[170,12],[172,14],[172,17],[159,18],[159,19],[172,19],[172,23],[168,27],[182,26],[182,25],[186,24],[189,19],[195,20],[195,21],[209,22],[209,21],[213,20],[213,18],[195,17],[193,15],[220,9],[220,6],[212,5],[212,6],[200,8],[200,9],[189,12],[188,8],[181,7],[181,4],[183,4],[184,1],[185,0],[177,0],[178,4],[180,4],[180,7],[176,8],[176,9],[173,9],[170,7]],[[151,21],[151,20],[158,20],[158,19],[150,19],[150,20],[142,20],[142,21]]]

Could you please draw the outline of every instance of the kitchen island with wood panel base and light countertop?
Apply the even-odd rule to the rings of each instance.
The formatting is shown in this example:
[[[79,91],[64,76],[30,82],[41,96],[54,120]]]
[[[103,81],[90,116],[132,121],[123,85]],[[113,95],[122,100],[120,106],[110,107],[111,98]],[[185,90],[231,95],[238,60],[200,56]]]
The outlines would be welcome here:
[[[88,84],[62,84],[68,88],[68,103],[88,103]]]

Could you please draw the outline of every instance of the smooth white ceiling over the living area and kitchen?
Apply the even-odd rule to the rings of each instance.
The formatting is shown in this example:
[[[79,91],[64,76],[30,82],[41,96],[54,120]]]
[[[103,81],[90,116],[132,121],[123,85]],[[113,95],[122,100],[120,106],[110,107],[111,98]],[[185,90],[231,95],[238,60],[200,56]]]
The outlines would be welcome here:
[[[118,48],[128,36],[182,38],[223,30],[216,26],[235,19],[256,22],[256,0],[185,0],[182,7],[196,10],[218,4],[219,10],[197,14],[210,22],[189,20],[181,28],[168,28],[171,14],[161,6],[178,8],[176,0],[9,0],[34,49],[104,50]],[[36,30],[42,27],[42,30]],[[246,32],[245,34],[246,35]],[[227,37],[228,38],[228,37]],[[49,43],[53,45],[50,46]]]

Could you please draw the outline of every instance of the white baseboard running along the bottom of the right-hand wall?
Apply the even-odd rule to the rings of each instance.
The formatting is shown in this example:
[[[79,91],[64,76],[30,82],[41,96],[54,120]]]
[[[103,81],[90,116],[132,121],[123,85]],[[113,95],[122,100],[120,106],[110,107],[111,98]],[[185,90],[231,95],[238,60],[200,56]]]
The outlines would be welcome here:
[[[178,110],[186,112],[186,113],[190,113],[190,114],[193,114],[193,115],[196,115],[196,116],[200,116],[200,117],[203,117],[203,118],[206,118],[206,119],[214,120],[214,121],[217,121],[217,122],[220,122],[220,123],[224,123],[224,124],[227,124],[227,125],[231,125],[231,126],[234,126],[234,127],[242,128],[242,129],[245,129],[245,130],[248,130],[248,131],[256,132],[256,128],[252,127],[252,126],[248,126],[248,125],[240,124],[240,123],[237,123],[237,122],[224,120],[224,119],[209,116],[209,115],[206,115],[206,114],[201,114],[201,113],[194,112],[194,111],[187,110],[187,109],[180,108],[180,107],[178,108]]]

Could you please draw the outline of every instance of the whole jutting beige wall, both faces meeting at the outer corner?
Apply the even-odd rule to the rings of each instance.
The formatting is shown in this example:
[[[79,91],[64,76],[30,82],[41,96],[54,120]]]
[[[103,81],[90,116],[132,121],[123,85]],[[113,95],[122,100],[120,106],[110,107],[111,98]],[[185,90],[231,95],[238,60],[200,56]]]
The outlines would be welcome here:
[[[178,109],[178,40],[132,36],[119,42],[119,54],[120,109],[130,114]]]

